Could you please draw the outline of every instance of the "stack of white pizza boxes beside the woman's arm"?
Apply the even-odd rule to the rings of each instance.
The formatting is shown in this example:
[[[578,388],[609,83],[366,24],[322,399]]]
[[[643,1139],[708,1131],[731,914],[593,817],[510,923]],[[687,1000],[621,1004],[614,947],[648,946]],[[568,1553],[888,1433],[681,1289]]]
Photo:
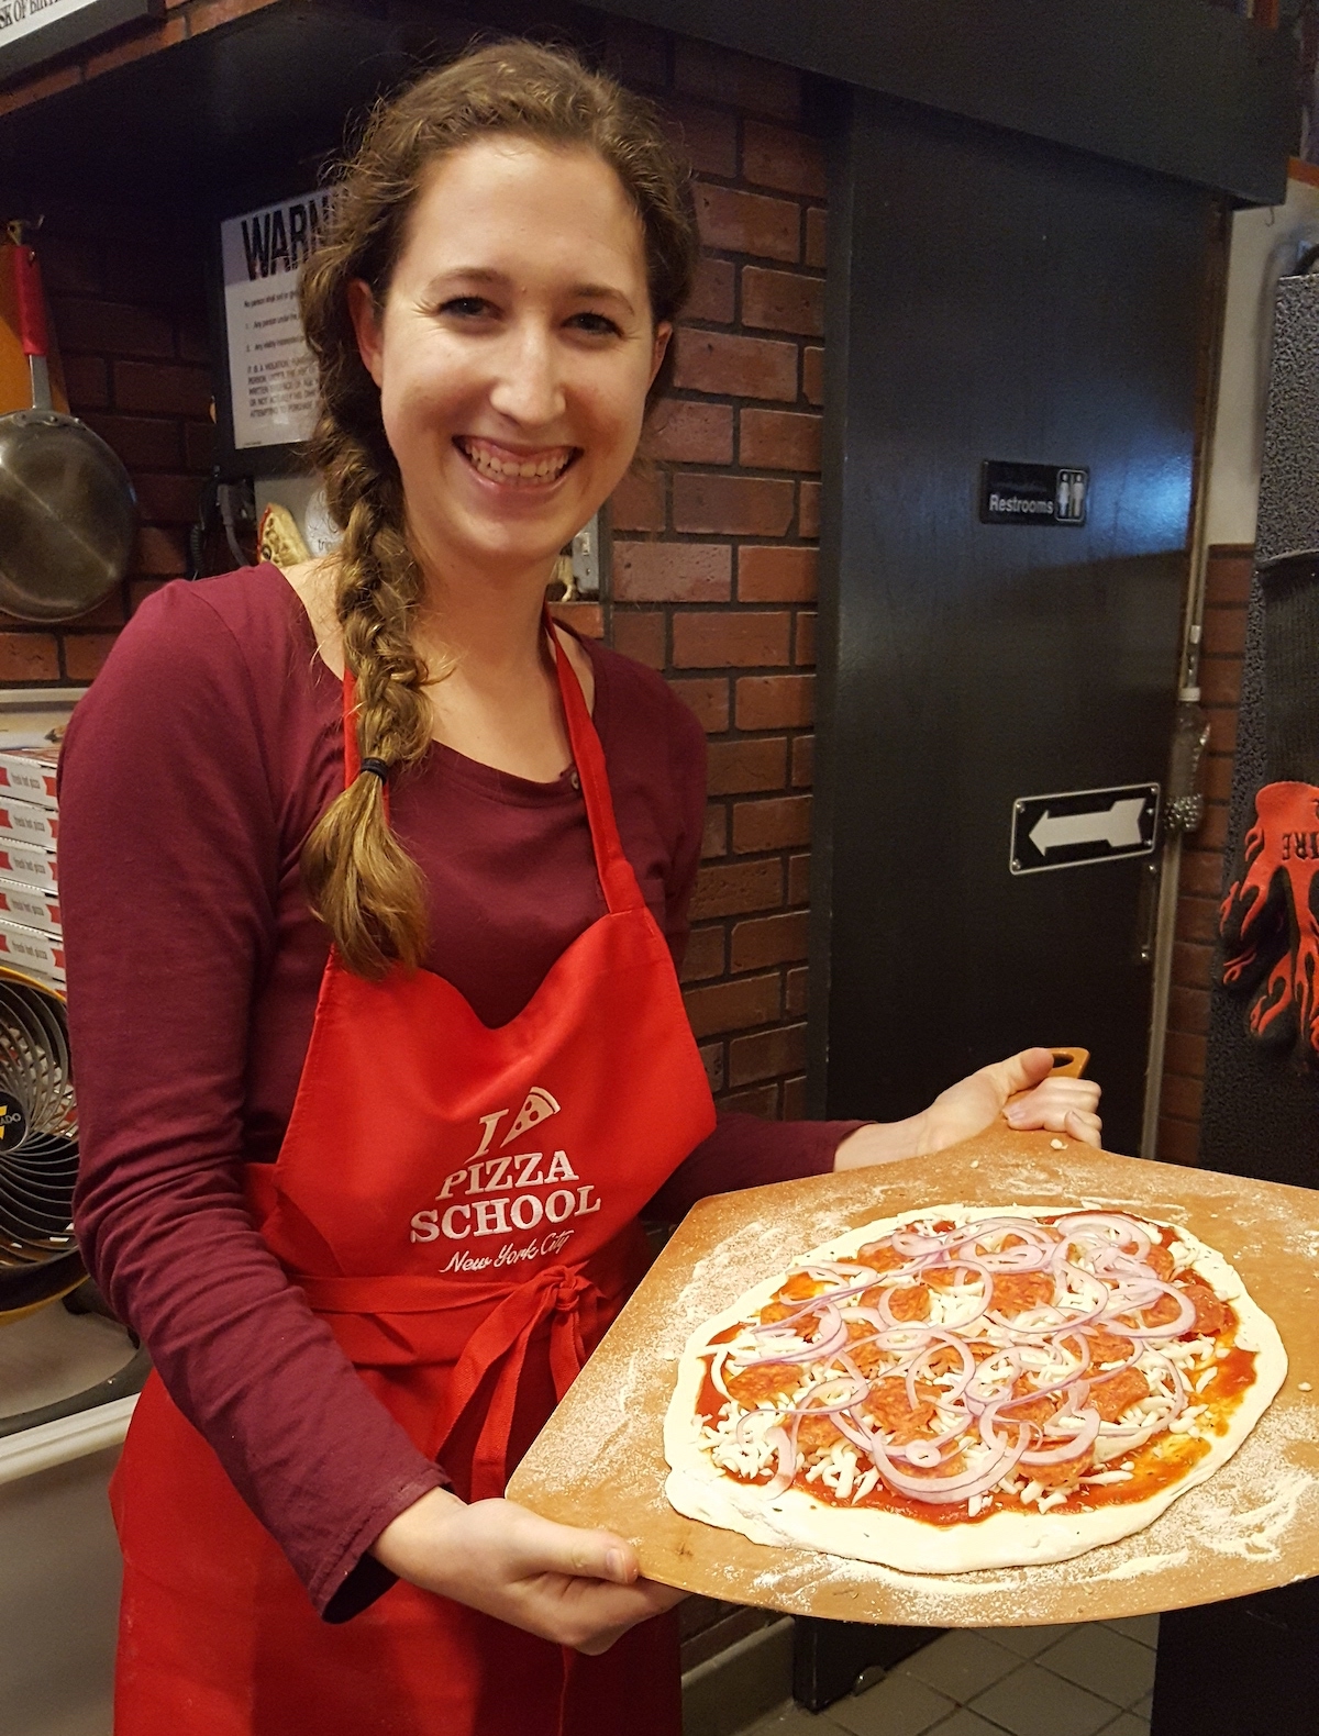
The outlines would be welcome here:
[[[0,750],[0,965],[63,993],[56,748]]]

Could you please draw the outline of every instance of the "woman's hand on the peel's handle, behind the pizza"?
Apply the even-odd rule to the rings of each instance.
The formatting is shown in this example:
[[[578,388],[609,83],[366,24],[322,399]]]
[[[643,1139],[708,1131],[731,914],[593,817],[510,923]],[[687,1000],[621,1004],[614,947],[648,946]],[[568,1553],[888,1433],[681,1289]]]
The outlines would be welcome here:
[[[836,1170],[853,1170],[869,1163],[891,1163],[956,1146],[984,1132],[999,1116],[1018,1132],[1044,1128],[1069,1134],[1088,1146],[1100,1142],[1100,1088],[1093,1080],[1051,1075],[1051,1049],[1024,1049],[1018,1055],[996,1061],[949,1085],[919,1115],[907,1121],[879,1121],[860,1127],[841,1142],[834,1156]],[[1022,1092],[1024,1095],[1017,1095]],[[1017,1101],[1008,1104],[1008,1099]]]

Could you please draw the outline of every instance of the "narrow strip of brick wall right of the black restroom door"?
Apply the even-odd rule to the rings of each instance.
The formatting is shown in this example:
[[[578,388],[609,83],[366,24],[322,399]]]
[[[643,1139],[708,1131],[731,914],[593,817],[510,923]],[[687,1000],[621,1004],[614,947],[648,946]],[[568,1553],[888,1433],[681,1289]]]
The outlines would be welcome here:
[[[1203,701],[1210,713],[1204,778],[1208,802],[1204,825],[1182,849],[1157,1147],[1159,1156],[1170,1163],[1196,1163],[1199,1156],[1210,976],[1223,885],[1227,802],[1232,792],[1251,561],[1253,549],[1220,545],[1210,550],[1206,568],[1199,675]]]

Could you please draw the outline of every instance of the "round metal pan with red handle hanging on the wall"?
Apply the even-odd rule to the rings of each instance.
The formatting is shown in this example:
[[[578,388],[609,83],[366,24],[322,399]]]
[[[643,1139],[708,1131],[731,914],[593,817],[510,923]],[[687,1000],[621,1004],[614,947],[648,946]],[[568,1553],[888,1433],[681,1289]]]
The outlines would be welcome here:
[[[14,260],[31,410],[0,417],[0,609],[23,621],[85,615],[129,569],[136,496],[118,457],[50,403],[36,255]]]

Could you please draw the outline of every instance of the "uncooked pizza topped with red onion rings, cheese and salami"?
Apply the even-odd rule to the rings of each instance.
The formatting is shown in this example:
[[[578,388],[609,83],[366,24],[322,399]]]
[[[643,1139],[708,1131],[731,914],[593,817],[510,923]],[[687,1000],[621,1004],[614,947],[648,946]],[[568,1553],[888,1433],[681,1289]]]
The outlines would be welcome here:
[[[666,1495],[758,1543],[907,1573],[1065,1561],[1213,1476],[1284,1375],[1277,1328],[1187,1229],[928,1207],[813,1248],[692,1335]]]

